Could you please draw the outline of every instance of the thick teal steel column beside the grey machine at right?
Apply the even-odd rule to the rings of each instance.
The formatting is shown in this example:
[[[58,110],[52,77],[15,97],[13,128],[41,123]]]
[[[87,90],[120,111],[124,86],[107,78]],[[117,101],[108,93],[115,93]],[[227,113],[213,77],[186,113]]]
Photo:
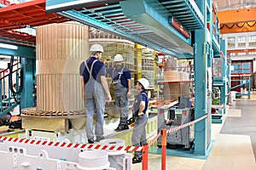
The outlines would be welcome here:
[[[207,23],[207,2],[196,1]],[[207,24],[195,31],[195,119],[207,114]],[[207,120],[195,123],[195,154],[206,155]]]

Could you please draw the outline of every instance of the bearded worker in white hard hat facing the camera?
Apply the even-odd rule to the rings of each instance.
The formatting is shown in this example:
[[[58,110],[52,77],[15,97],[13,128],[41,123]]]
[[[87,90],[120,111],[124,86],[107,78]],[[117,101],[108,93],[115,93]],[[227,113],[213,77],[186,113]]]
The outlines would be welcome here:
[[[114,66],[107,69],[112,77],[114,103],[119,112],[120,120],[115,131],[129,129],[127,124],[129,114],[129,98],[131,97],[131,71],[123,65],[124,58],[116,54],[113,58]]]

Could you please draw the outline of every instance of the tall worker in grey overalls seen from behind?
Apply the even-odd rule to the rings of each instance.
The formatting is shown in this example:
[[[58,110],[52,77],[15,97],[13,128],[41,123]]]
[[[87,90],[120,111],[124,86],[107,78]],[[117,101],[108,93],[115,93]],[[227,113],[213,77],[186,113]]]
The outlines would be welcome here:
[[[103,123],[105,111],[105,95],[110,102],[111,95],[109,93],[108,82],[106,80],[106,68],[104,63],[100,61],[103,53],[102,45],[93,44],[90,47],[91,56],[80,65],[79,74],[81,77],[82,96],[84,99],[86,120],[86,137],[90,144],[95,141],[104,139]],[[96,111],[96,128],[94,133],[94,114]]]

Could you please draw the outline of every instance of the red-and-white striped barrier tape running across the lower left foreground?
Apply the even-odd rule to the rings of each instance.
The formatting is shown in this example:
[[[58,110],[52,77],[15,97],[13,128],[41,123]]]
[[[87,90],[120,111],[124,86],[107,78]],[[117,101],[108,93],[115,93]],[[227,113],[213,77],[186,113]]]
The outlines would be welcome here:
[[[142,146],[115,146],[115,145],[102,145],[102,144],[73,144],[73,143],[65,143],[65,142],[53,142],[53,141],[41,141],[35,139],[17,139],[10,137],[0,137],[1,141],[9,141],[20,144],[40,144],[40,145],[48,145],[55,147],[65,147],[65,148],[76,148],[76,149],[87,149],[87,150],[125,150],[125,151],[142,151]]]

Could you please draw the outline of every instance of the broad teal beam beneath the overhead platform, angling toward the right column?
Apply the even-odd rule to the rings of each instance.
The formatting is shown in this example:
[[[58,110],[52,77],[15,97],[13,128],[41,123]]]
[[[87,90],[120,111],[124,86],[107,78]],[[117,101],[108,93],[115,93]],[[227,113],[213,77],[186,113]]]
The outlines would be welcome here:
[[[166,38],[173,44],[173,50],[181,54],[193,54],[190,39],[170,26],[172,14],[157,0],[129,0],[120,2],[125,16],[128,16],[148,30]]]

